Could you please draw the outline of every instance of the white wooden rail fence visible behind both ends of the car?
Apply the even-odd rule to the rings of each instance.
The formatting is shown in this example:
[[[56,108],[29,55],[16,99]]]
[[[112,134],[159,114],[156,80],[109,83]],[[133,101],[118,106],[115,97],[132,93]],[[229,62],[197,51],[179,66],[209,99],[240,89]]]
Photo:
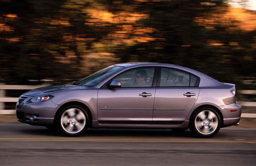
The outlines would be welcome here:
[[[5,97],[5,90],[32,90],[36,88],[45,87],[46,85],[0,85],[0,114],[16,114],[15,110],[4,110],[4,102],[17,102],[19,97]],[[238,91],[240,94],[256,94],[256,90],[240,90]],[[256,110],[256,102],[243,102],[237,101],[238,105],[244,107],[255,107]],[[256,118],[256,111],[254,113],[242,113],[241,117],[245,118]]]

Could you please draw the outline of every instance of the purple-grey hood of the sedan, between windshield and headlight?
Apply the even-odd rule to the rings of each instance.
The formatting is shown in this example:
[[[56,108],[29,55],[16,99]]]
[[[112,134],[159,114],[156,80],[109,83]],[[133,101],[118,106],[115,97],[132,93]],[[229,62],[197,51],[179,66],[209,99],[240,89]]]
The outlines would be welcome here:
[[[37,88],[31,91],[24,93],[23,95],[27,96],[38,96],[38,95],[50,95],[60,91],[69,91],[69,90],[78,90],[78,89],[86,89],[87,87],[77,86],[77,85],[62,85],[62,86],[50,86]]]

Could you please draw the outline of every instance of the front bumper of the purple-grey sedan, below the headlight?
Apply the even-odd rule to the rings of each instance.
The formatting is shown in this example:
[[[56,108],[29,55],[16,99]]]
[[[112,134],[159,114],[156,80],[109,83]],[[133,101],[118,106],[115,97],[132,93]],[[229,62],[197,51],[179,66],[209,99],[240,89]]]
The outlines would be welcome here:
[[[25,95],[23,95],[25,96]],[[54,116],[59,108],[59,105],[54,104],[51,100],[45,102],[31,103],[29,102],[31,96],[27,97],[23,102],[17,102],[16,114],[19,122],[27,123],[30,125],[47,126],[52,125]],[[35,119],[30,120],[33,115]]]

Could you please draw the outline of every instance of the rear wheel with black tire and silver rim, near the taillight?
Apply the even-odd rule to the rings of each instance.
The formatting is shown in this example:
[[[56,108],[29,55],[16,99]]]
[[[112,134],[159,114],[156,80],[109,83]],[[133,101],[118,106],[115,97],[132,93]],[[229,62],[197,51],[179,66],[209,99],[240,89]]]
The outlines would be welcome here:
[[[219,132],[220,126],[218,112],[212,108],[202,108],[192,115],[189,129],[197,137],[210,138]]]

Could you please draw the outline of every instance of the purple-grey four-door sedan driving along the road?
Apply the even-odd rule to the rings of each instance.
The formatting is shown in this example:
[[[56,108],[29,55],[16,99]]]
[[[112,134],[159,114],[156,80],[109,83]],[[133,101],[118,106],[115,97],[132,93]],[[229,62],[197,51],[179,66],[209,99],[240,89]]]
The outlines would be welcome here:
[[[158,128],[211,137],[237,124],[235,85],[160,63],[109,66],[71,85],[20,96],[18,121],[78,136],[87,128]]]

